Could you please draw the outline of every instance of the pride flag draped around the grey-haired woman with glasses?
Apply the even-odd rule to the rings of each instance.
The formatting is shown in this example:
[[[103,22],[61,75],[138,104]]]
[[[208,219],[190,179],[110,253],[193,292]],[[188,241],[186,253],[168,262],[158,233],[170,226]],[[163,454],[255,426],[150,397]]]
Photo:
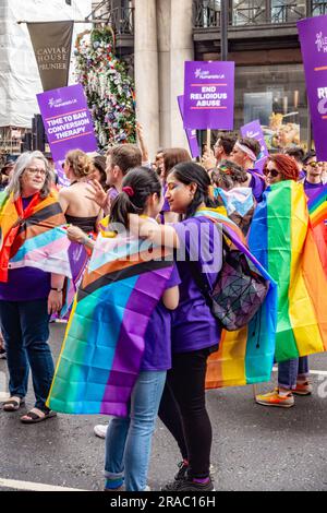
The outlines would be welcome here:
[[[39,201],[25,219],[19,217],[12,196],[0,195],[0,251],[7,251],[9,256],[8,263],[3,260],[1,265],[1,281],[7,281],[8,269],[19,267],[36,267],[66,276],[69,286],[62,315],[72,305],[75,284],[88,262],[85,248],[68,239],[65,226],[55,190]]]

